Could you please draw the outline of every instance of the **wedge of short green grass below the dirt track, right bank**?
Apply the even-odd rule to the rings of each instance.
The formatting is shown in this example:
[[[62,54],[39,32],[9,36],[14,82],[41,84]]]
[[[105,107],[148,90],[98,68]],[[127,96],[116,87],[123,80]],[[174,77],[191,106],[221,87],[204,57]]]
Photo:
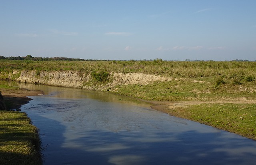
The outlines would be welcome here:
[[[256,104],[200,104],[171,109],[173,114],[256,140]]]

